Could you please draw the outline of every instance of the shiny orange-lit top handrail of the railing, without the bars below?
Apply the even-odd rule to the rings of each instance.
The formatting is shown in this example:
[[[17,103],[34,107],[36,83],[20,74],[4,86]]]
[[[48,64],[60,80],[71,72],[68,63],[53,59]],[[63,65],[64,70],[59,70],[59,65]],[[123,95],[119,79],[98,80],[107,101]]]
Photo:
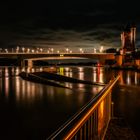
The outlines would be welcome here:
[[[109,84],[107,84],[92,100],[90,100],[77,114],[48,137],[47,140],[58,139],[58,137],[64,140],[71,139],[87,121],[90,114],[93,113],[99,103],[107,96],[119,78],[120,76],[118,75],[115,79],[111,80]],[[74,127],[68,130],[71,125],[74,125]]]

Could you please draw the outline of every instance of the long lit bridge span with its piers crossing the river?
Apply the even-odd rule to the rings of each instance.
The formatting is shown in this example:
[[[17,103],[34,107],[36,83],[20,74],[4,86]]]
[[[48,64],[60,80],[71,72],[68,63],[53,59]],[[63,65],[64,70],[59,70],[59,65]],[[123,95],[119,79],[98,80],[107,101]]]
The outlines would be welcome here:
[[[52,58],[51,58],[52,57]],[[32,67],[33,61],[45,59],[95,59],[101,64],[105,64],[106,60],[114,60],[114,53],[0,53],[0,58],[17,58],[21,62],[21,66],[27,65]]]

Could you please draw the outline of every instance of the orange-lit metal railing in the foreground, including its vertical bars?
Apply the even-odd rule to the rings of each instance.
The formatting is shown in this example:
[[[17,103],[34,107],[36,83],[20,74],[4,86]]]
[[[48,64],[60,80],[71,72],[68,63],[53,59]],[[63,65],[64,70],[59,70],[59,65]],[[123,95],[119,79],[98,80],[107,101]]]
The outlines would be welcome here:
[[[47,140],[101,140],[111,119],[111,90],[120,76],[111,80],[72,119]]]

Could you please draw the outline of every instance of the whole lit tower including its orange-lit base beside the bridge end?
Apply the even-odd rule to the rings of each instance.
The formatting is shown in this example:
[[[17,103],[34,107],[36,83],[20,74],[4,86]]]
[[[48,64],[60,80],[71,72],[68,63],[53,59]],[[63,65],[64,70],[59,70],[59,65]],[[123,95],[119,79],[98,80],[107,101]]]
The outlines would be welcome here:
[[[127,24],[121,33],[121,49],[120,54],[116,55],[117,65],[134,65],[134,52],[136,42],[136,26]]]

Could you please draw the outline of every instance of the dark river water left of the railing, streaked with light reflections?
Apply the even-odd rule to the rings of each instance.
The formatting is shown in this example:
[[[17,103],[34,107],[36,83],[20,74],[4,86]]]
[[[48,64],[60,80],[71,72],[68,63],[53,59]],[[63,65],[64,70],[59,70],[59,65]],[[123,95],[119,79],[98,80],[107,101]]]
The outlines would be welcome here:
[[[103,88],[66,83],[71,89],[65,89],[37,84],[21,79],[20,71],[29,69],[0,68],[0,139],[46,139]],[[96,67],[60,67],[59,73],[93,82],[110,79],[104,69]]]

